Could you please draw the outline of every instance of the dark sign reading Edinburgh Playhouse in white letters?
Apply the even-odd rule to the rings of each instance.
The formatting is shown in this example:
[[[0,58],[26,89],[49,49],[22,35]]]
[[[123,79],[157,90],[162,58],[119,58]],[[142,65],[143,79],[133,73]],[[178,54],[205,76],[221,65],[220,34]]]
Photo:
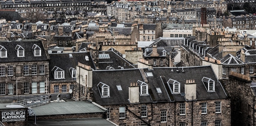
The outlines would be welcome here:
[[[17,122],[26,120],[26,111],[1,111],[2,122]]]

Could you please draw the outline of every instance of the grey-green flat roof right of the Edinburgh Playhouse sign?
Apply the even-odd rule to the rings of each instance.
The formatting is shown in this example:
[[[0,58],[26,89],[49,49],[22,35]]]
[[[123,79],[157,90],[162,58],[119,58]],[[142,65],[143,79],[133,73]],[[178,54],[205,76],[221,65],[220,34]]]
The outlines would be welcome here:
[[[88,101],[50,102],[32,107],[32,109],[36,116],[105,112],[105,110]]]

